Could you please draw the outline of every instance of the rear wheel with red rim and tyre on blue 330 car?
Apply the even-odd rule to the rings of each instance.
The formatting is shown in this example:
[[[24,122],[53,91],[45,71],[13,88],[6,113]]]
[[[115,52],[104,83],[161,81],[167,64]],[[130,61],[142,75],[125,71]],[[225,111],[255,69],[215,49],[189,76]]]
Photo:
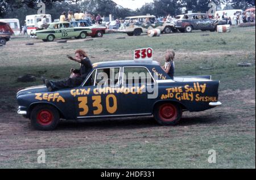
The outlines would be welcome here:
[[[163,103],[156,105],[154,109],[154,117],[160,125],[177,125],[182,116],[182,109],[179,104]]]

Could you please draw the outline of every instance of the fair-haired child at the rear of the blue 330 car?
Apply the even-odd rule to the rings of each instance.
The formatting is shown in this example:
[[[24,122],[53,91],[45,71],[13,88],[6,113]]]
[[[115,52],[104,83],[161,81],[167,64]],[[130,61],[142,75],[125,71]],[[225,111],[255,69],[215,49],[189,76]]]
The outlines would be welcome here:
[[[174,50],[167,50],[166,54],[164,55],[166,62],[165,65],[162,67],[164,72],[166,72],[170,78],[173,80],[174,79],[174,57],[175,57],[175,52]]]

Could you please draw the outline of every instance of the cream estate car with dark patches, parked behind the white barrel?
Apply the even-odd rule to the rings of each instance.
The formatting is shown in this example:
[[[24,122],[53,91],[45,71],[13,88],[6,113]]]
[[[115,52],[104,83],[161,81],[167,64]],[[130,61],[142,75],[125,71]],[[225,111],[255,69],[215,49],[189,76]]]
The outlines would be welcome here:
[[[127,33],[128,36],[140,36],[150,29],[160,29],[162,33],[171,33],[174,24],[171,22],[158,22],[154,15],[131,16],[123,20],[119,32]]]

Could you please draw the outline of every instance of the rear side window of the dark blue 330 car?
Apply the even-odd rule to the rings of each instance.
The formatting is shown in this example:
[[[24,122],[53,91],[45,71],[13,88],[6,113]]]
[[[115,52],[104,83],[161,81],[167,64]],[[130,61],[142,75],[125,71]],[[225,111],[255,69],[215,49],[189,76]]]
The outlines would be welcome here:
[[[124,67],[123,85],[152,84],[154,79],[145,67]]]

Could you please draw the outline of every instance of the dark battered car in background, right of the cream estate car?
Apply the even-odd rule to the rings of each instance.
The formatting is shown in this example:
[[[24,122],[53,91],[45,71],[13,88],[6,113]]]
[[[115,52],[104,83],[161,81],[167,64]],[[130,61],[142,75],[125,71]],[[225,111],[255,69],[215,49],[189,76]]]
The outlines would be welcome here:
[[[192,13],[176,16],[172,23],[180,32],[192,32],[193,29],[214,32],[217,25],[224,25],[226,21],[210,19],[205,13]]]

